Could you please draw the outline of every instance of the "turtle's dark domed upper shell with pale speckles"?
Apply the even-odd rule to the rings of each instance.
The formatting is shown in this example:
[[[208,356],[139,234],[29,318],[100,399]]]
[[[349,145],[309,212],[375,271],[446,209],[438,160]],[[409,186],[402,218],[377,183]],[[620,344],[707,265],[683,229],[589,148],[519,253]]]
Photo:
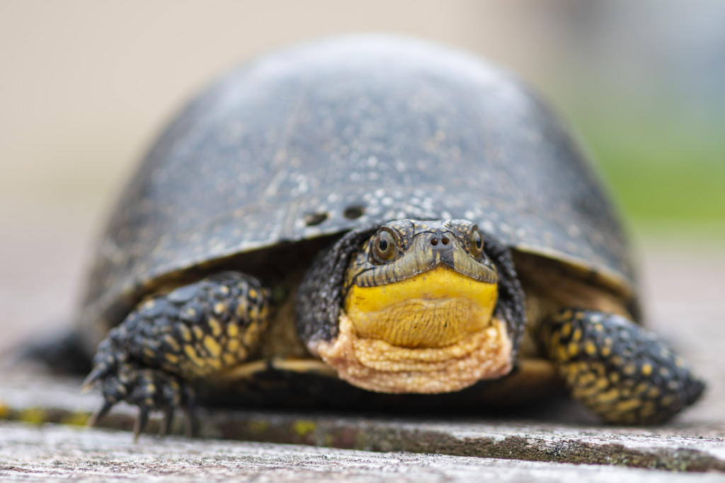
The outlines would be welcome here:
[[[173,120],[112,214],[80,318],[104,332],[194,267],[405,217],[471,219],[634,293],[600,182],[526,86],[471,54],[362,35],[262,56]]]

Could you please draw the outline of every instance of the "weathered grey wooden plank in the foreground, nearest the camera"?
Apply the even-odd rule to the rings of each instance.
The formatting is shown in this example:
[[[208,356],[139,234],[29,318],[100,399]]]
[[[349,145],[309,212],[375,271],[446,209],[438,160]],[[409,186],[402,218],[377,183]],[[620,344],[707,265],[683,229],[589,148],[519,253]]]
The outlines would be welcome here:
[[[69,426],[0,424],[0,478],[33,481],[221,482],[721,482],[718,473],[681,474],[613,466],[413,453],[371,453],[257,442],[141,437]]]

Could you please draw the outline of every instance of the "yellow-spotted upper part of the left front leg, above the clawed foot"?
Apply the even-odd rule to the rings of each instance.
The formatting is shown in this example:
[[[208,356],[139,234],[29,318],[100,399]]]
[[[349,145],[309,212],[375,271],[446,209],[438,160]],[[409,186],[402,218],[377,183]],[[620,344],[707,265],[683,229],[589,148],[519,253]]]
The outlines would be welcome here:
[[[268,322],[269,290],[234,272],[142,303],[94,358],[100,371],[117,347],[147,366],[196,379],[244,361]]]

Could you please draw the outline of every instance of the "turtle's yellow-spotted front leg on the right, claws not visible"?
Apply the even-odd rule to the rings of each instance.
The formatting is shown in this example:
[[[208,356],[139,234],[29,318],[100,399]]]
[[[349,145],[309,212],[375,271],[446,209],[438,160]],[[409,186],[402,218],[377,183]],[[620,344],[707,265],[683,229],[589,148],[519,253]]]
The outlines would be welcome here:
[[[541,336],[573,398],[609,423],[666,421],[705,387],[663,340],[622,316],[567,309]]]

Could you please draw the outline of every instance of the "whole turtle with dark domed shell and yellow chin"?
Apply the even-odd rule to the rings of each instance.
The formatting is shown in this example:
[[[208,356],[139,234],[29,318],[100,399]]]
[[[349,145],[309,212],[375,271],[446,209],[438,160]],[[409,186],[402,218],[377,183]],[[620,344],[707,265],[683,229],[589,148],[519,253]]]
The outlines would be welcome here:
[[[137,436],[204,401],[479,408],[555,387],[658,424],[705,385],[640,319],[622,222],[558,115],[479,56],[394,35],[204,88],[120,196],[78,313],[91,424],[125,401]]]

